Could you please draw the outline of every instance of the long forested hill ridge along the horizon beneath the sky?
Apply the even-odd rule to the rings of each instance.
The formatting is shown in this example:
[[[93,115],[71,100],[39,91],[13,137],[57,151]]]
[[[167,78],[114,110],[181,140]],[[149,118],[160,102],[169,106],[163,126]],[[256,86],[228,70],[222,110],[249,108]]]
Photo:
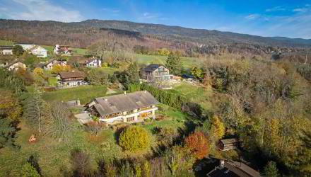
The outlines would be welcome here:
[[[88,47],[98,40],[117,40],[124,45],[130,45],[129,47],[146,45],[151,48],[170,47],[182,50],[193,46],[234,45],[233,49],[243,50],[247,46],[251,50],[255,48],[261,50],[260,52],[269,52],[266,47],[311,46],[311,40],[305,39],[266,38],[218,30],[102,20],[61,23],[0,19],[0,38],[18,42],[35,42],[42,45],[62,43],[73,47]]]

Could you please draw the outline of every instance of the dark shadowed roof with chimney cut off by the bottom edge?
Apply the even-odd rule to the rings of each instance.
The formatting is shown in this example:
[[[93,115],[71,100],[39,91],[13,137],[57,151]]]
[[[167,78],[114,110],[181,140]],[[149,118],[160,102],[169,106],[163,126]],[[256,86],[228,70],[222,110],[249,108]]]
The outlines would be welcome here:
[[[260,173],[239,161],[221,160],[220,165],[207,173],[209,177],[260,177]]]

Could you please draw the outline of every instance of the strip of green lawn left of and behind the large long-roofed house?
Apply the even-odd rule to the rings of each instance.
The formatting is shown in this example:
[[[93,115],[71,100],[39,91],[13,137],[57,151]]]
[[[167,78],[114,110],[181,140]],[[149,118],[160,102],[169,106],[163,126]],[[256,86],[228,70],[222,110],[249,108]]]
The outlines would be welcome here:
[[[59,89],[43,93],[45,101],[72,101],[80,99],[81,104],[87,103],[95,97],[105,96],[105,86],[79,86],[69,89]]]

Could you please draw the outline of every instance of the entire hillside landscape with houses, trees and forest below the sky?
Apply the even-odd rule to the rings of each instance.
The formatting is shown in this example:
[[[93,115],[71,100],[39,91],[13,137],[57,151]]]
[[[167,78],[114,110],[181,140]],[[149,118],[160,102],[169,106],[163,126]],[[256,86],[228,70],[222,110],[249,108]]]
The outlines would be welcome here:
[[[309,42],[0,19],[0,176],[311,176]]]

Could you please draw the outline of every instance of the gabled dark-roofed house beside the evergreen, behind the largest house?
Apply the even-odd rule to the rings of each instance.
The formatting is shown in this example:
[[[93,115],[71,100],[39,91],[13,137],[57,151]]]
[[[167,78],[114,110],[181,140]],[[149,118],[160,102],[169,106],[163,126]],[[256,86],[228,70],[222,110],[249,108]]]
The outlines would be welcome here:
[[[148,81],[168,81],[171,80],[173,75],[170,70],[165,68],[162,64],[149,64],[141,71],[142,79]]]

